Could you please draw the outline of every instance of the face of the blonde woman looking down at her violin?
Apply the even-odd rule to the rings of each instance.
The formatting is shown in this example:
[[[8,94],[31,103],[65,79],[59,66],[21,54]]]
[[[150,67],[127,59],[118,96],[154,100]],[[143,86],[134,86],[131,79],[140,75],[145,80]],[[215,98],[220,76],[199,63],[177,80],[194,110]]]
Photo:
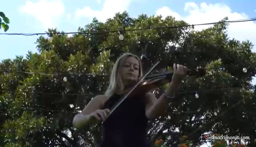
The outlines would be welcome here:
[[[120,66],[119,73],[125,85],[138,79],[140,69],[139,65],[139,61],[136,58],[128,57]]]

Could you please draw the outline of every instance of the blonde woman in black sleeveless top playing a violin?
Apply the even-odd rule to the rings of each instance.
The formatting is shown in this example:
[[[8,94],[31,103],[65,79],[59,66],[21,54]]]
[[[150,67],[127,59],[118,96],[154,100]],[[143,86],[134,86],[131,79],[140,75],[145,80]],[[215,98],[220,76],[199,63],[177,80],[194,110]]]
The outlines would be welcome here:
[[[185,66],[174,64],[172,81],[158,99],[153,93],[139,93],[125,99],[109,115],[110,108],[124,96],[121,93],[143,76],[138,56],[123,54],[114,64],[106,93],[94,97],[83,111],[74,117],[73,125],[82,128],[86,124],[103,121],[100,147],[150,147],[146,138],[148,120],[166,113],[168,102],[178,90],[178,85],[186,73]]]

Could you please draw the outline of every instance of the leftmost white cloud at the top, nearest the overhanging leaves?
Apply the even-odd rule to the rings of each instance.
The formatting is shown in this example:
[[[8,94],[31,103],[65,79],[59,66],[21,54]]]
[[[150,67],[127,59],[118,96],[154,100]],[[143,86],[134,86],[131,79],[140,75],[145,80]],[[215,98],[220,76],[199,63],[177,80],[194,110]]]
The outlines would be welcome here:
[[[25,6],[20,7],[20,12],[36,18],[45,29],[55,28],[64,13],[64,5],[61,0],[40,0],[35,3],[26,1]]]

